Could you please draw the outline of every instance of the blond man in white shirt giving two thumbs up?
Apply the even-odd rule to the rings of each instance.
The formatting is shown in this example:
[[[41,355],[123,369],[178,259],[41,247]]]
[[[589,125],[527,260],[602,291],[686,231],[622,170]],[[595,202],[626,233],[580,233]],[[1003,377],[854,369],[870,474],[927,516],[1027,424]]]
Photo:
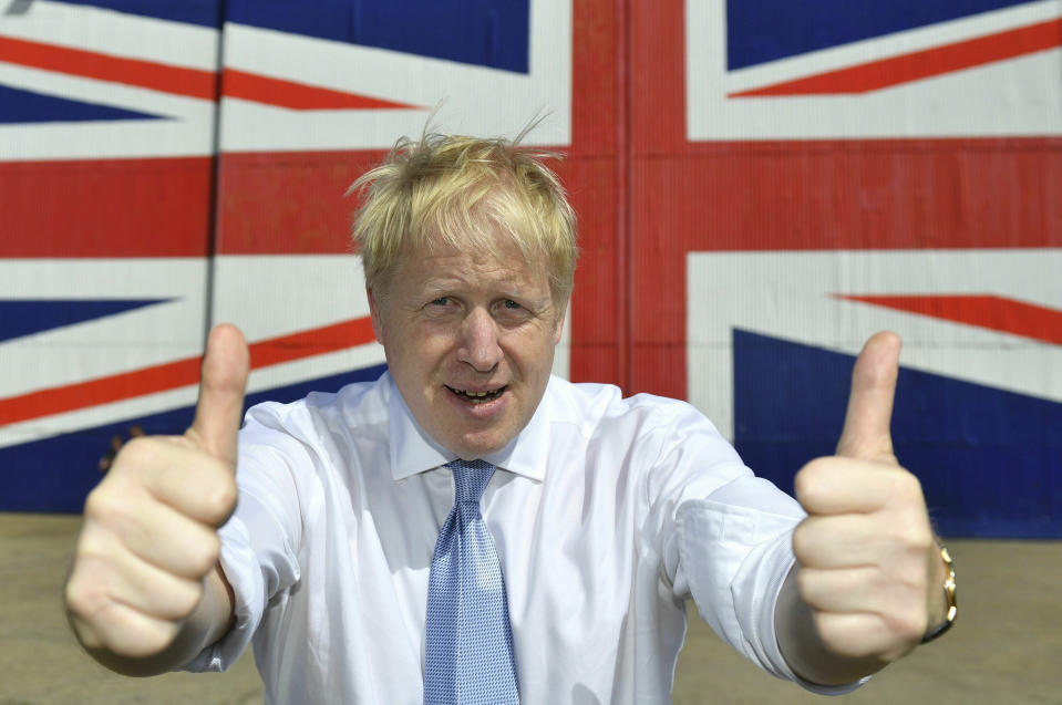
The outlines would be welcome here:
[[[240,431],[247,348],[215,329],[192,427],[131,440],[86,502],[66,604],[99,661],[216,670],[252,641],[269,702],[667,702],[688,598],[826,693],[947,623],[891,453],[895,335],[802,508],[689,405],[550,377],[575,216],[534,154],[427,136],[354,189],[389,373]]]

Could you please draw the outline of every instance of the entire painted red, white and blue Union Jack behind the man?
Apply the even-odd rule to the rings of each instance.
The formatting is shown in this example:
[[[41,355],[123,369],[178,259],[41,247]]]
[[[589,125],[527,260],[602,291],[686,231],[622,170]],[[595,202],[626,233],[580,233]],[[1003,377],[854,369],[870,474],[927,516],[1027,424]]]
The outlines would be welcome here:
[[[0,15],[0,510],[190,421],[374,379],[346,189],[425,125],[565,153],[556,371],[688,398],[786,489],[905,339],[946,535],[1062,536],[1062,6],[95,0]]]

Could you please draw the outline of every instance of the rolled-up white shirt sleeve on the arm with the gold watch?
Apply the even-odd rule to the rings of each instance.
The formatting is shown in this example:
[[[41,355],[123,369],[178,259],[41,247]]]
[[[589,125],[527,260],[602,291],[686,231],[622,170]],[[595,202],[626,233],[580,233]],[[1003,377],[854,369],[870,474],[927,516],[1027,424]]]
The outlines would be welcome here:
[[[863,682],[803,681],[779,649],[774,613],[796,561],[792,537],[803,508],[755,477],[711,423],[689,411],[661,442],[658,480],[650,484],[676,597],[692,598],[712,630],[767,673],[823,695],[855,690]]]

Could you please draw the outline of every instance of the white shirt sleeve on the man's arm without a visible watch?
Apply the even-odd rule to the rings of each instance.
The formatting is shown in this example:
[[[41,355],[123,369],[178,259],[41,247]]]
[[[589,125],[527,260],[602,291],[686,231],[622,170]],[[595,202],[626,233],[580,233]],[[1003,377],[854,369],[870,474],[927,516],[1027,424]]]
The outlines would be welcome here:
[[[220,563],[233,587],[236,623],[188,663],[186,671],[225,671],[236,663],[268,605],[299,581],[302,521],[296,473],[312,463],[301,444],[259,423],[266,418],[256,412],[248,414],[239,435],[236,511],[218,530]]]

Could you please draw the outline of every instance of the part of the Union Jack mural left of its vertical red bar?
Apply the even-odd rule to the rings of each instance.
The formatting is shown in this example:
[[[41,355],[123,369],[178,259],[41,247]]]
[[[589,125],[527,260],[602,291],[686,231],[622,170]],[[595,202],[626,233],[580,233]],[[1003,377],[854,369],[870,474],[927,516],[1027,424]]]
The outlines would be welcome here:
[[[528,2],[13,3],[0,510],[80,511],[122,442],[181,433],[215,322],[248,338],[248,403],[379,376],[346,189],[427,124],[542,114],[528,142],[565,147],[570,22]]]

